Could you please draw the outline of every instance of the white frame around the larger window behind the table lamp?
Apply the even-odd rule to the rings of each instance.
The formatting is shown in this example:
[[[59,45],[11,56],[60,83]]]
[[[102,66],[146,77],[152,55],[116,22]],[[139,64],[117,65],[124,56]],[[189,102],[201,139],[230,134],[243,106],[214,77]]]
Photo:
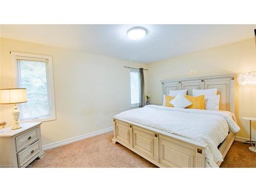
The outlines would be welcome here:
[[[39,54],[31,54],[31,53],[22,53],[22,52],[14,52],[10,51],[11,59],[12,59],[12,79],[13,86],[17,87],[18,82],[18,73],[17,73],[17,57],[25,57],[31,59],[46,59],[48,60],[48,91],[50,96],[50,104],[51,104],[51,116],[49,117],[41,117],[36,119],[26,119],[20,122],[45,122],[45,121],[53,121],[56,120],[56,109],[55,109],[55,96],[54,96],[54,82],[53,82],[53,67],[52,67],[52,56],[49,55],[39,55]]]

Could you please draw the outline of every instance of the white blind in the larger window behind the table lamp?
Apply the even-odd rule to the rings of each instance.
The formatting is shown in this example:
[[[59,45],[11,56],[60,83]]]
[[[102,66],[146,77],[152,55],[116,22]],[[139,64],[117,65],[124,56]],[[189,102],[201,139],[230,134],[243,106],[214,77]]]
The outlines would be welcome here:
[[[47,59],[16,57],[18,87],[27,89],[28,102],[19,106],[20,120],[52,117]]]

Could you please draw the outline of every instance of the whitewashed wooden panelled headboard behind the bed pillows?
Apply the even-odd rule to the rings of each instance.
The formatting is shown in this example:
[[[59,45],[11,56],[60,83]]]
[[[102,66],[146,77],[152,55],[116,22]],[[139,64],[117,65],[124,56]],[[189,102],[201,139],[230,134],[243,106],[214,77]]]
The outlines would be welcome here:
[[[220,95],[220,110],[234,113],[235,81],[236,75],[163,80],[161,81],[163,87],[162,95],[168,95],[169,90],[186,89],[187,94],[192,95],[192,89],[217,88],[217,94]]]

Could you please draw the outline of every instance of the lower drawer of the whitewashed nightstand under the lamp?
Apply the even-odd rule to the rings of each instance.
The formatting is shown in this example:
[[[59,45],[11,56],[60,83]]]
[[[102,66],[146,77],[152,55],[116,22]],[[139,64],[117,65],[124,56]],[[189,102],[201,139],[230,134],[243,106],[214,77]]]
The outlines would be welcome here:
[[[24,165],[27,161],[29,161],[32,157],[34,157],[37,153],[39,153],[41,148],[40,145],[41,143],[38,140],[28,148],[25,148],[23,151],[17,153],[18,165],[19,166]]]

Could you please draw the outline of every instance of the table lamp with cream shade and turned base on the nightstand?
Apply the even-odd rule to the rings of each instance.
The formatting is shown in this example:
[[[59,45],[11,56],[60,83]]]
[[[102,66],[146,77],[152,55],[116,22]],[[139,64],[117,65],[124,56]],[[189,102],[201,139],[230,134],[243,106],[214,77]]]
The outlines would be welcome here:
[[[12,111],[14,125],[13,130],[20,129],[22,126],[19,124],[19,110],[17,103],[28,102],[27,100],[27,89],[25,88],[14,88],[14,89],[1,89],[0,90],[0,104],[14,104]]]

